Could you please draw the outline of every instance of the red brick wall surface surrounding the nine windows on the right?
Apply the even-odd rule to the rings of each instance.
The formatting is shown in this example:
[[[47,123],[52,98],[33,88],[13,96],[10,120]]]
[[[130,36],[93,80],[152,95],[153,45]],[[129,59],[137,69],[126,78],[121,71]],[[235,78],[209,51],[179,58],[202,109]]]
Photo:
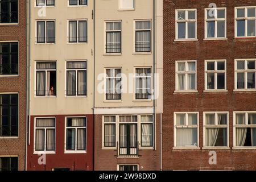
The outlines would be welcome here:
[[[234,59],[256,57],[256,38],[234,39],[234,7],[255,6],[256,1],[214,1],[227,10],[228,40],[204,39],[204,9],[213,1],[169,1],[163,5],[164,32],[164,113],[163,169],[256,169],[256,150],[216,150],[217,165],[209,165],[208,152],[203,147],[203,112],[229,112],[229,147],[233,147],[233,111],[256,111],[256,92],[233,92]],[[197,9],[197,39],[195,42],[174,42],[175,9]],[[205,93],[204,60],[226,59],[228,92]],[[175,61],[197,60],[198,93],[174,93]],[[199,111],[200,150],[172,150],[174,147],[174,112]]]

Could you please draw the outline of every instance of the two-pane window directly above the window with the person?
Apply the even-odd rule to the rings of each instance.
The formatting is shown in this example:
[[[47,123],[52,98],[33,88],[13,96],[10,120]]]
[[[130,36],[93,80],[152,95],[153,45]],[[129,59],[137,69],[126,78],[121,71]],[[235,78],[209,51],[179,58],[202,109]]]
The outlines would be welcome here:
[[[55,21],[36,22],[36,43],[55,43]]]

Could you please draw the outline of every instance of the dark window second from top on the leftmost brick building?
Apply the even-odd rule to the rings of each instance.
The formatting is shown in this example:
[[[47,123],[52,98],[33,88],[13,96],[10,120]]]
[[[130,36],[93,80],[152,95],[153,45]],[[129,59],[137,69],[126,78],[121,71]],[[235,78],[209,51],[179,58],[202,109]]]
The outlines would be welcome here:
[[[0,43],[0,75],[18,75],[19,43]]]

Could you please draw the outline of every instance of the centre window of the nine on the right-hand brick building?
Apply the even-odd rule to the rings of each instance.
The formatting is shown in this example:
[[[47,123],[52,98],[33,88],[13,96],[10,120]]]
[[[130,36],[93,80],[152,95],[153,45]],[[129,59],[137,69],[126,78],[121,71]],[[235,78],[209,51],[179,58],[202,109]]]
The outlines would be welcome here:
[[[205,61],[205,90],[226,90],[226,61]]]

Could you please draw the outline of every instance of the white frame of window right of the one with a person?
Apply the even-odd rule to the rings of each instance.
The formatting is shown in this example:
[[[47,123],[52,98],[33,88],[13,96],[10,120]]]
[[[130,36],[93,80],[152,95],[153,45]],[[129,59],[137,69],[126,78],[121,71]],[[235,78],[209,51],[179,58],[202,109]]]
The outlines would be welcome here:
[[[68,62],[86,62],[86,69],[67,69]],[[88,95],[88,61],[87,60],[66,60],[65,61],[65,97],[87,97]],[[67,95],[67,71],[76,71],[76,96],[68,96]],[[77,71],[86,71],[86,96],[77,95]]]

